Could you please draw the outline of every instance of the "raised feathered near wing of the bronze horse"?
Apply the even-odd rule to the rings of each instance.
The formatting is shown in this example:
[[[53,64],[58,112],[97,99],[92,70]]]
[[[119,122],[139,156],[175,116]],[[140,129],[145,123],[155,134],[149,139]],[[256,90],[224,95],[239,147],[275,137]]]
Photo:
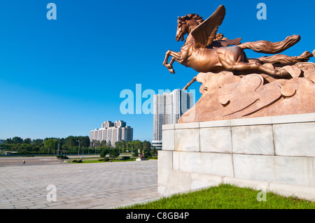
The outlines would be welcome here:
[[[207,45],[214,41],[224,17],[225,7],[219,6],[214,14],[191,31],[191,35],[195,38],[195,48],[207,48]]]

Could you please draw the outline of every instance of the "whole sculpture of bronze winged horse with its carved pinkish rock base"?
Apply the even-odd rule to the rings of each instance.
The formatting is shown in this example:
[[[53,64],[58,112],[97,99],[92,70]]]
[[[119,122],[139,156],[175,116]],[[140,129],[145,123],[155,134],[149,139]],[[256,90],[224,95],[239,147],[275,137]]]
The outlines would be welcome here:
[[[298,43],[300,35],[276,43],[228,40],[217,33],[224,17],[224,6],[207,20],[197,14],[179,17],[176,41],[188,36],[181,52],[167,51],[163,65],[171,73],[174,62],[200,72],[183,89],[196,80],[202,83],[200,100],[179,123],[314,113],[315,64],[307,61],[315,50],[313,55],[309,51],[297,57],[279,55]],[[272,56],[248,59],[246,49]]]

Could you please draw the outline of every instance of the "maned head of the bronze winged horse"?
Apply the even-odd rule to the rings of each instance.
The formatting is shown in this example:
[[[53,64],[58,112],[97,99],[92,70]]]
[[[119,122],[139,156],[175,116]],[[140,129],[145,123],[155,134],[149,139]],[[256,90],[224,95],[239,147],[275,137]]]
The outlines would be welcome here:
[[[184,36],[186,34],[190,34],[190,31],[195,29],[198,24],[201,22],[204,22],[202,20],[202,17],[200,17],[198,14],[188,14],[182,17],[178,17],[179,20],[177,20],[177,31],[176,31],[176,41],[184,41]]]

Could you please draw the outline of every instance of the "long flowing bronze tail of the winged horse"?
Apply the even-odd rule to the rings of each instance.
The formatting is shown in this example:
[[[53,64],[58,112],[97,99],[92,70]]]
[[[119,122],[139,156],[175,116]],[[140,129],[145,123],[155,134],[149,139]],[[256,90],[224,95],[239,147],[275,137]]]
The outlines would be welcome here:
[[[298,43],[301,39],[300,35],[288,36],[284,41],[281,42],[269,42],[269,41],[256,41],[248,42],[237,45],[241,49],[250,49],[255,52],[267,53],[267,54],[277,54],[287,50],[291,46]]]

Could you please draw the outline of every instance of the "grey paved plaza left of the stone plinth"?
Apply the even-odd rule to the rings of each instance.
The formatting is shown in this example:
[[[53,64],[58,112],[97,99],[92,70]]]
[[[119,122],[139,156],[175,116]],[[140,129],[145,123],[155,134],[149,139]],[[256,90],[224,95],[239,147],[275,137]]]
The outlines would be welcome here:
[[[160,197],[156,160],[28,164],[0,166],[0,209],[115,208]]]

